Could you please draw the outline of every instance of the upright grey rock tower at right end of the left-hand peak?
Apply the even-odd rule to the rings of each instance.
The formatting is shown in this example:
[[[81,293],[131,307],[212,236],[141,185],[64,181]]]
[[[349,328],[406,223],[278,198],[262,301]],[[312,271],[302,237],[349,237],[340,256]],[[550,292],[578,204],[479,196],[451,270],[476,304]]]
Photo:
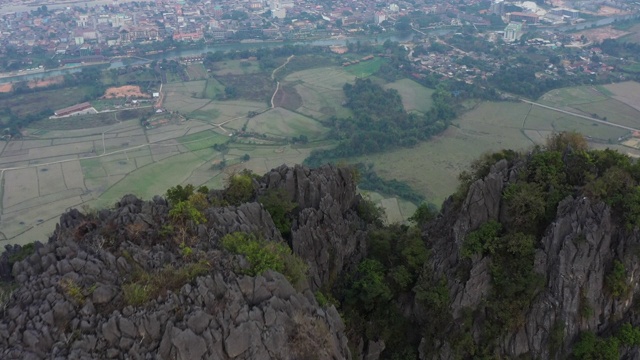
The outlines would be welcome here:
[[[355,210],[361,197],[351,171],[331,165],[314,170],[281,166],[263,181],[266,189],[285,189],[298,204],[291,244],[311,265],[313,289],[335,281],[366,255],[366,231]]]

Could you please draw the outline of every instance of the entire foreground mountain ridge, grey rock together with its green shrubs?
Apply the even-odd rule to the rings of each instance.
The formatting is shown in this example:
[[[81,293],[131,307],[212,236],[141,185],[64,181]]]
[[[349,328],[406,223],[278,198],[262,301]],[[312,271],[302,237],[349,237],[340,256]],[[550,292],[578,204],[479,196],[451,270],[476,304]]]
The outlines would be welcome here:
[[[571,139],[481,158],[413,225],[333,166],[69,211],[0,258],[0,358],[638,359],[640,164]]]

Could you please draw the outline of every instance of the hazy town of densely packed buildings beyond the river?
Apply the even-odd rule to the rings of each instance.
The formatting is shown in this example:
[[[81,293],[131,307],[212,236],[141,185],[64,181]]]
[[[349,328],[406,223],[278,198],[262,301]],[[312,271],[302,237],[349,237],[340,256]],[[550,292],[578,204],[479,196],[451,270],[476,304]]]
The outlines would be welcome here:
[[[170,49],[172,42],[349,35],[365,30],[385,31],[405,16],[415,20],[416,14],[436,19],[433,26],[417,21],[411,24],[423,29],[463,24],[487,26],[490,24],[487,15],[498,15],[508,24],[500,33],[503,40],[516,42],[528,26],[579,21],[583,11],[549,9],[532,1],[506,0],[492,0],[488,9],[466,11],[480,7],[481,1],[463,0],[454,4],[448,0],[411,3],[401,0],[113,0],[93,5],[88,0],[84,6],[56,6],[55,9],[40,6],[31,11],[0,13],[0,60],[4,57],[13,59],[9,63],[19,62],[30,55],[46,54],[56,59],[54,65],[57,66],[69,57],[104,60],[104,56],[149,54]],[[580,2],[591,3],[591,0]],[[640,3],[624,6],[640,7]],[[514,9],[517,11],[511,11]],[[157,45],[159,42],[162,44]],[[38,65],[42,63],[32,66]],[[0,68],[9,67],[0,61]]]

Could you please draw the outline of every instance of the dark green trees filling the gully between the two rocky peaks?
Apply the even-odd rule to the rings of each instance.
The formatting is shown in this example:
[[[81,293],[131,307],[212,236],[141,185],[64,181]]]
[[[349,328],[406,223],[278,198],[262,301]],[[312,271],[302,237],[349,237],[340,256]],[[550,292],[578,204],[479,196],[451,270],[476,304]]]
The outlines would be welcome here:
[[[430,287],[420,276],[427,247],[417,228],[402,225],[371,231],[368,246],[367,258],[333,291],[349,335],[352,340],[384,340],[383,358],[415,359],[420,334],[415,319],[402,316],[398,299],[421,284]]]

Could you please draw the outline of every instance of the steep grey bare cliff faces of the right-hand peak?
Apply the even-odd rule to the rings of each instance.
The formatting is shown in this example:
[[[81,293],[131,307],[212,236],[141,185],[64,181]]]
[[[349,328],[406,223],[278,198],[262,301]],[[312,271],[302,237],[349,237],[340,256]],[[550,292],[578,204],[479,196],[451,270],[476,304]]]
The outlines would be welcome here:
[[[516,181],[522,165],[521,160],[511,166],[506,160],[493,165],[487,176],[471,185],[462,205],[454,205],[451,199],[445,202],[439,219],[426,230],[433,255],[429,267],[437,277],[447,280],[455,322],[464,321],[465,310],[480,309],[492,287],[490,261],[482,255],[474,255],[470,269],[465,269],[468,276],[460,276],[461,269],[467,266],[460,254],[464,238],[488,220],[508,223],[510,214],[501,194]],[[507,331],[499,339],[498,353],[507,358],[525,354],[541,359],[564,358],[582,331],[611,333],[622,321],[633,320],[635,324],[637,319],[630,318],[630,309],[637,301],[638,235],[620,225],[603,202],[583,196],[561,201],[535,252],[535,271],[544,276],[544,286],[524,314],[523,326]],[[628,294],[620,297],[606,289],[614,259],[624,263],[632,286]],[[589,311],[585,311],[587,308]],[[474,312],[474,316],[471,331],[477,340],[484,330],[483,318],[481,312]],[[552,345],[558,341],[552,339],[558,329],[563,340]],[[634,358],[637,350],[625,348],[627,352],[621,355]],[[430,358],[454,356],[445,341]]]

